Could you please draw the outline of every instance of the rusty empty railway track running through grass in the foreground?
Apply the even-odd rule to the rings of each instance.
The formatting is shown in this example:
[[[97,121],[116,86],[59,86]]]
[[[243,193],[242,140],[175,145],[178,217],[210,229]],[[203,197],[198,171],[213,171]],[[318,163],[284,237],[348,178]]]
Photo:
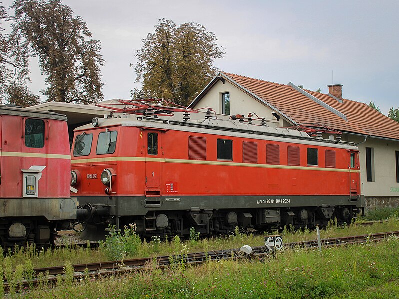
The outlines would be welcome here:
[[[337,246],[342,244],[356,244],[370,241],[381,241],[390,235],[399,236],[399,231],[382,232],[375,234],[365,234],[348,237],[335,237],[321,239],[323,247]],[[317,240],[300,241],[285,243],[285,247],[288,248],[315,248],[318,247]],[[99,263],[89,264],[77,264],[73,265],[74,279],[82,279],[87,276],[90,278],[99,278],[102,276],[110,276],[115,274],[121,274],[126,272],[143,271],[149,268],[166,268],[171,265],[199,265],[209,260],[222,260],[222,259],[237,259],[237,258],[250,258],[250,259],[261,259],[270,253],[266,252],[265,246],[256,246],[252,248],[253,253],[251,255],[244,254],[239,248],[216,250],[208,252],[197,252],[188,253],[183,255],[175,256],[159,256],[159,257],[148,257],[140,259],[129,259],[124,261],[105,261]],[[36,268],[34,269],[35,279],[29,281],[19,281],[18,285],[24,287],[34,287],[40,283],[38,277],[45,275],[44,280],[48,284],[54,284],[57,281],[58,275],[64,275],[64,266]],[[4,278],[4,289],[5,292],[9,291],[9,284]]]

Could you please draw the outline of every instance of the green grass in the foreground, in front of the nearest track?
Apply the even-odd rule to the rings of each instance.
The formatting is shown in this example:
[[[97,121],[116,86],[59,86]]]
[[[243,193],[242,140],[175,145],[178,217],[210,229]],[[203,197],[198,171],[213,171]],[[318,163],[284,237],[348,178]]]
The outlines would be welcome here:
[[[395,298],[399,239],[323,249],[283,249],[263,261],[155,267],[98,281],[64,280],[20,298]]]

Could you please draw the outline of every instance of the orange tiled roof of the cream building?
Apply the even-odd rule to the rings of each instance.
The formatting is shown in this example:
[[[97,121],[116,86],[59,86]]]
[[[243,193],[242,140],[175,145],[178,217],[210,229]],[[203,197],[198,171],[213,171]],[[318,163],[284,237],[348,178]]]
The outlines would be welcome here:
[[[342,99],[305,90],[332,108],[345,114],[345,121],[332,111],[316,103],[290,85],[222,72],[241,87],[275,107],[296,123],[321,123],[330,128],[362,135],[399,140],[399,123],[369,107],[365,103]]]

